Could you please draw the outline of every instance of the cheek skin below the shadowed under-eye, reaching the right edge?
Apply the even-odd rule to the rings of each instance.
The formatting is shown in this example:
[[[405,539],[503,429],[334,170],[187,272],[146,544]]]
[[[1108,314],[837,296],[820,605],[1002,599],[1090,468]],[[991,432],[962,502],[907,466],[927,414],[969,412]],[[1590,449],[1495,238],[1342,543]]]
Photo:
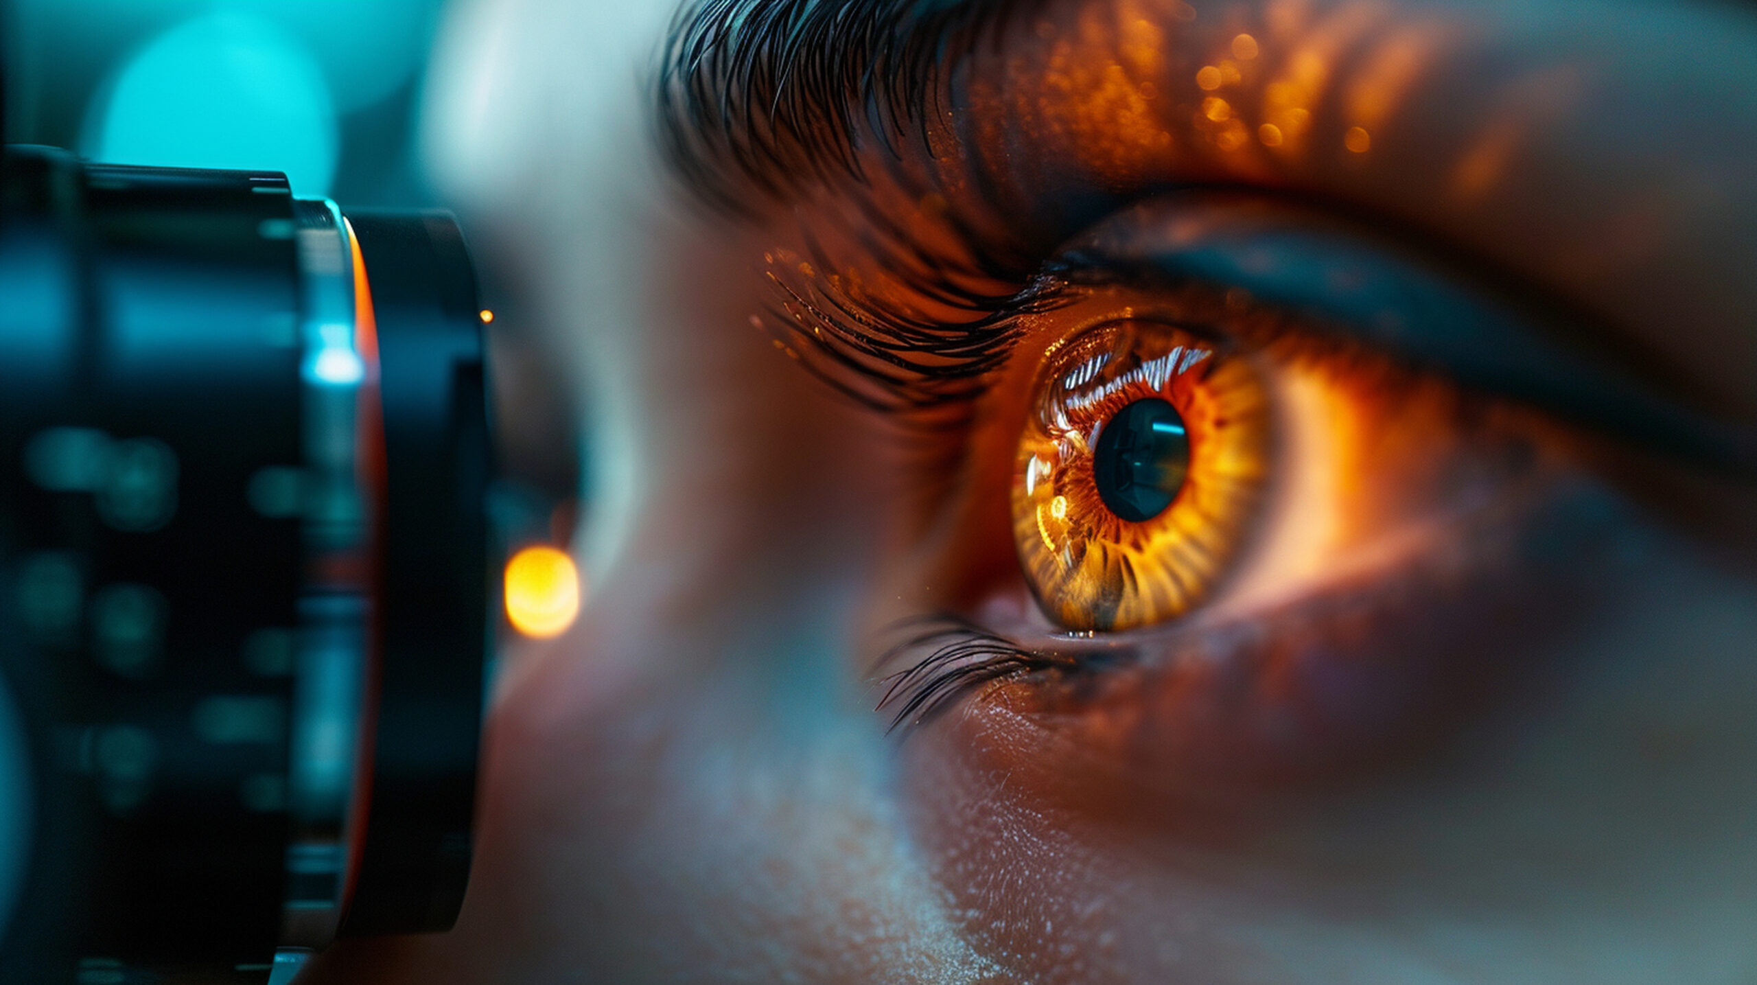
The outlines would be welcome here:
[[[908,739],[921,839],[972,936],[1044,981],[1738,981],[1757,588],[1659,534],[1625,546],[1641,606],[1527,653],[1567,672],[1428,769],[1204,832],[1070,795],[1116,764],[989,695]]]

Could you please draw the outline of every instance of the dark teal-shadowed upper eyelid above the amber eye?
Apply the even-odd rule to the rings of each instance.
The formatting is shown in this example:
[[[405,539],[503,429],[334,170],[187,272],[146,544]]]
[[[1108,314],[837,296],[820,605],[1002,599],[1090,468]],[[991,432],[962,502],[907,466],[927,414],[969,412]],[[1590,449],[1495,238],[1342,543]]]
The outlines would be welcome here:
[[[1130,228],[1163,209],[1153,230]],[[1158,232],[1172,226],[1174,232]],[[1182,193],[1119,212],[1051,262],[1075,283],[1242,290],[1272,311],[1457,383],[1557,413],[1706,467],[1757,476],[1757,441],[1666,392],[1639,356],[1569,330],[1492,283],[1311,207],[1239,193]],[[1588,344],[1588,341],[1592,344]]]

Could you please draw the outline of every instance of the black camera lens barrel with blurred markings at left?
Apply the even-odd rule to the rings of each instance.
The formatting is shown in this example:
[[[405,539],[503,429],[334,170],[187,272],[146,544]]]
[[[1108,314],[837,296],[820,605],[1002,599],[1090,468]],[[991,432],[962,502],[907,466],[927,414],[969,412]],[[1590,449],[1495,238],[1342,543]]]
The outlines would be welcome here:
[[[497,595],[457,225],[7,147],[0,298],[0,981],[450,927]]]

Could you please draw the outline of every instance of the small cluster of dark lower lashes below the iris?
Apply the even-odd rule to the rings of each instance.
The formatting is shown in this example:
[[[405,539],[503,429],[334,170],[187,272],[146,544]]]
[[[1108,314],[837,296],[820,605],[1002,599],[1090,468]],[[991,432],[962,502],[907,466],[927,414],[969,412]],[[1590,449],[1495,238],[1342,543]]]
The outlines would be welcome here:
[[[914,629],[915,632],[886,650],[873,662],[873,674],[905,653],[931,650],[908,667],[877,678],[877,683],[884,685],[886,690],[875,711],[896,709],[886,734],[905,729],[905,725],[907,734],[951,708],[959,697],[991,681],[1044,671],[1077,672],[1084,669],[1084,662],[1075,657],[1021,646],[987,627],[951,613],[907,618],[893,623],[891,629]]]

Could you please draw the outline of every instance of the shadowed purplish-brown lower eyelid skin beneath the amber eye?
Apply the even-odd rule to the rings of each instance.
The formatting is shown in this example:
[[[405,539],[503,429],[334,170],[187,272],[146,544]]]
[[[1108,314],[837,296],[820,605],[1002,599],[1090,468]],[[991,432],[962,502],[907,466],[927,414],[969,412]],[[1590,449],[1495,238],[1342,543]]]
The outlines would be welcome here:
[[[1641,528],[1597,483],[1557,479],[1446,532],[1448,546],[1274,611],[1103,646],[1040,639],[1075,669],[996,685],[972,716],[1001,708],[1056,736],[1045,748],[1107,764],[1063,776],[1070,790],[1107,771],[1140,804],[1330,788],[1418,762],[1485,702],[1565,671],[1541,655],[1638,585],[1623,548]]]

